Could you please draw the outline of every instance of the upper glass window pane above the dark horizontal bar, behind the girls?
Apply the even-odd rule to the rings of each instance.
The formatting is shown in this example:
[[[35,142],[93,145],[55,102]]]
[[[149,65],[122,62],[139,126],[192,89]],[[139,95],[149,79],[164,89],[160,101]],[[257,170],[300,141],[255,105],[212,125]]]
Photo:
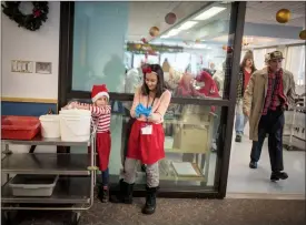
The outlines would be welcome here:
[[[221,99],[230,6],[75,2],[72,90],[106,83],[110,92],[130,93],[128,72],[137,71],[140,79],[131,80],[140,85],[141,62],[147,62],[164,65],[168,89],[180,92],[177,96]],[[191,82],[182,85],[186,76]]]

